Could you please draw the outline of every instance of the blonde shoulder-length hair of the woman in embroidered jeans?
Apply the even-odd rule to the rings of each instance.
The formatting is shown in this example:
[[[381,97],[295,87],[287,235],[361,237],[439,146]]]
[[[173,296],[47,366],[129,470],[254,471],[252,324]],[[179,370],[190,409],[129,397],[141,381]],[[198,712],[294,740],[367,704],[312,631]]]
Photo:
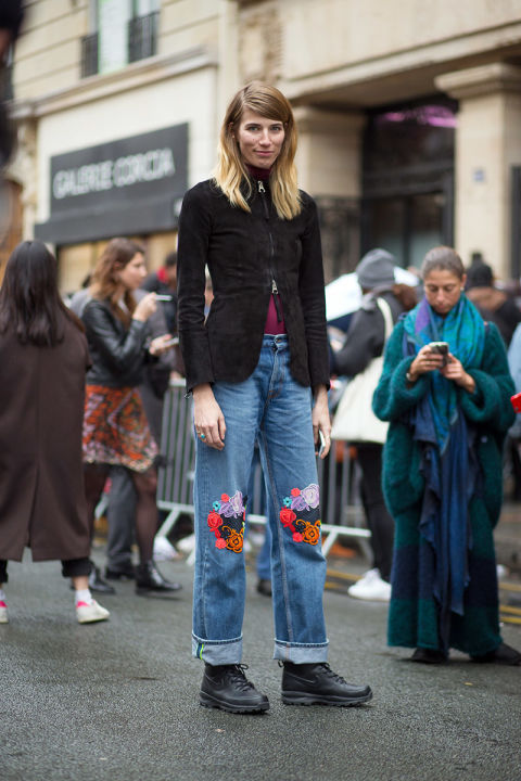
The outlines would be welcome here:
[[[271,168],[269,185],[278,216],[281,219],[293,219],[302,210],[294,164],[296,126],[288,99],[276,87],[252,81],[240,89],[231,100],[220,129],[213,181],[233,206],[239,206],[244,212],[251,210],[247,199],[252,194],[252,183],[236,139],[245,108],[267,119],[283,123],[284,140]]]

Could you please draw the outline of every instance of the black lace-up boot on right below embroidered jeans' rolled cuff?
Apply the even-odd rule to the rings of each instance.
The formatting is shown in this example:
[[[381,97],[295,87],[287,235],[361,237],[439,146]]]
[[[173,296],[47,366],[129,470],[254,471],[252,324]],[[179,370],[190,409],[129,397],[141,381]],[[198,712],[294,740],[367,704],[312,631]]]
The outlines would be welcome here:
[[[282,702],[285,705],[361,705],[372,697],[368,686],[346,681],[326,662],[296,665],[284,662]]]

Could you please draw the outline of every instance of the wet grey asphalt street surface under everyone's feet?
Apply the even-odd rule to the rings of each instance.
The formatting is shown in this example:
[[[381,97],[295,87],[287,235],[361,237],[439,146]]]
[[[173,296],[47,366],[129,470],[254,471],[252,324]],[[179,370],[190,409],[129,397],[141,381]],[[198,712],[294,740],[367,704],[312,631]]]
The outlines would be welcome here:
[[[100,560],[101,561],[101,560]],[[521,668],[407,661],[385,646],[386,606],[328,589],[330,663],[369,682],[358,708],[280,701],[270,600],[249,575],[244,662],[266,715],[198,703],[202,664],[190,658],[192,572],[175,598],[131,584],[100,600],[104,624],[79,626],[60,563],[10,564],[11,622],[0,626],[2,781],[520,781]],[[504,627],[521,646],[521,627]]]

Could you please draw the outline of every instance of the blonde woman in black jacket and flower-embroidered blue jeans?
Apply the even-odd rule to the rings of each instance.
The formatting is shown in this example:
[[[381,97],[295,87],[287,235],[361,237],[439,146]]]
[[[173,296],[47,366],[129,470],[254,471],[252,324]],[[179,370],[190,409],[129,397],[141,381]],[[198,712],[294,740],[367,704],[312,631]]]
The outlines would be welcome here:
[[[200,703],[262,712],[244,675],[243,555],[258,440],[272,535],[275,658],[287,704],[371,697],[327,664],[316,457],[330,447],[329,362],[317,207],[298,190],[296,127],[275,87],[252,82],[226,112],[214,177],[186,194],[179,223],[179,337],[193,395],[193,655]],[[205,268],[214,297],[205,318]]]

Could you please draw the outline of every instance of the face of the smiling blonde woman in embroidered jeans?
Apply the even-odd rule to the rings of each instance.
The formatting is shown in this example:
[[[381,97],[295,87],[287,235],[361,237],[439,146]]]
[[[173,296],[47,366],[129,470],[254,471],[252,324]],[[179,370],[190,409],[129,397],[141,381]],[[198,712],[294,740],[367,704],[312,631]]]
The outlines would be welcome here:
[[[267,119],[251,108],[244,108],[236,129],[242,159],[256,168],[270,168],[280,154],[284,141],[284,124]]]

